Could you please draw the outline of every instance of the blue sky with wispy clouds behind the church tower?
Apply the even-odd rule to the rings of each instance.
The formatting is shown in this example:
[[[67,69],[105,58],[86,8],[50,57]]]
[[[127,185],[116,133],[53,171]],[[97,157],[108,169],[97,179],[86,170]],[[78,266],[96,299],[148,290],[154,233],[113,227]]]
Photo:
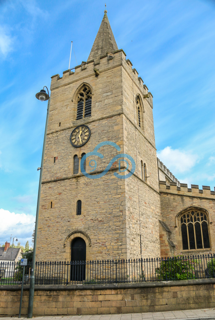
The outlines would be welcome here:
[[[153,94],[157,156],[188,187],[214,190],[215,0],[106,5],[118,48]],[[35,94],[68,69],[71,41],[78,64],[87,60],[104,9],[0,0],[0,244],[11,234],[31,244],[47,107]]]

